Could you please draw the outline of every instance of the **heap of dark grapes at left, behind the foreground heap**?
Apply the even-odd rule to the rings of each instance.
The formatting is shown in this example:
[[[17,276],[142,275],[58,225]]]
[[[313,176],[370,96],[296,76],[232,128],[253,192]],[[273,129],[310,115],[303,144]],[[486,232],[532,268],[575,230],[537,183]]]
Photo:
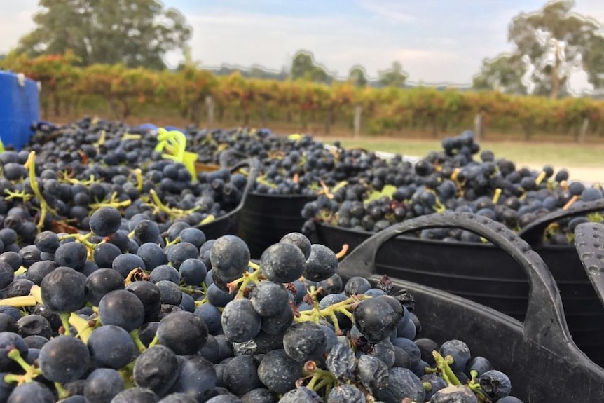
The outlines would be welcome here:
[[[155,242],[175,221],[200,226],[240,205],[247,170],[215,168],[193,178],[157,144],[155,132],[84,118],[0,153],[4,247],[15,233],[27,245],[43,230],[85,231],[100,207],[117,208],[126,233],[138,226],[137,240]]]

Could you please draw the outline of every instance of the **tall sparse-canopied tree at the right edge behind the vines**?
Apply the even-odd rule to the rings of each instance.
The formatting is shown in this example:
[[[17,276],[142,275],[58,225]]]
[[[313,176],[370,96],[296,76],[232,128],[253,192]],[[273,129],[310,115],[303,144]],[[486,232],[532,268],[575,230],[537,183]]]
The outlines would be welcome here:
[[[507,61],[518,65],[522,60],[526,69],[519,69],[514,77],[505,59],[497,57],[499,63],[483,64],[479,84],[498,85],[505,78],[514,88],[528,71],[532,93],[556,98],[568,94],[570,77],[583,69],[593,86],[603,86],[604,43],[598,32],[602,25],[572,13],[573,6],[572,0],[557,0],[535,13],[516,15],[507,35],[514,45]]]

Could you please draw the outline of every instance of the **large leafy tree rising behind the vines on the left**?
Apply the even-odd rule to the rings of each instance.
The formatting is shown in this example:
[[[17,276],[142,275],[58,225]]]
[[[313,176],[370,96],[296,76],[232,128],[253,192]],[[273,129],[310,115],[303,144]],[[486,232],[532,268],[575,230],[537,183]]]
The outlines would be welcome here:
[[[165,68],[170,50],[183,50],[191,27],[158,0],[40,0],[36,28],[17,50],[30,57],[72,50],[83,65],[122,63]]]

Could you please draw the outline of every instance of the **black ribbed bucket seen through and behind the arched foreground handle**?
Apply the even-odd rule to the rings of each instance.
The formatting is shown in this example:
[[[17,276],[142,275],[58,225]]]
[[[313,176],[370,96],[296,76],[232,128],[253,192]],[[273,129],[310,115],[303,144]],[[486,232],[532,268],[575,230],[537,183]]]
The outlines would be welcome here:
[[[601,210],[604,200],[545,217],[528,228],[528,238],[545,228],[548,220]],[[388,228],[387,231],[390,231]],[[317,223],[313,242],[334,251],[348,244],[358,247],[371,233]],[[604,366],[604,306],[585,274],[572,246],[533,246],[543,259],[562,297],[565,318],[575,343],[597,364]],[[441,289],[524,320],[530,283],[514,257],[493,245],[449,243],[397,236],[376,255],[379,273]]]

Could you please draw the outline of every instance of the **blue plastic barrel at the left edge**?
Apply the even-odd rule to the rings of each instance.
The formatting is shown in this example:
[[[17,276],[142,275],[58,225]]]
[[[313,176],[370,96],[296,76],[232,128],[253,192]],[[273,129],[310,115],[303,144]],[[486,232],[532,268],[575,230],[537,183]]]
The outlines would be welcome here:
[[[38,84],[12,71],[0,71],[0,138],[19,150],[34,134],[40,118]]]

